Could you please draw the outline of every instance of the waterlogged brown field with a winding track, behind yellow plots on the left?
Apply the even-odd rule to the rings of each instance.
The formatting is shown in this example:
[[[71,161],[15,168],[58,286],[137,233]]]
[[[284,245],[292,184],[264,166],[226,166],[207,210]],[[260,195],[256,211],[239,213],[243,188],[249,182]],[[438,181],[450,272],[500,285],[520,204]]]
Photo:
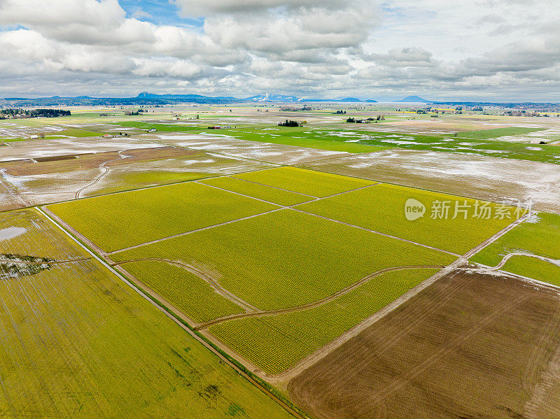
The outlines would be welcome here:
[[[0,161],[0,211],[268,166],[170,146]]]

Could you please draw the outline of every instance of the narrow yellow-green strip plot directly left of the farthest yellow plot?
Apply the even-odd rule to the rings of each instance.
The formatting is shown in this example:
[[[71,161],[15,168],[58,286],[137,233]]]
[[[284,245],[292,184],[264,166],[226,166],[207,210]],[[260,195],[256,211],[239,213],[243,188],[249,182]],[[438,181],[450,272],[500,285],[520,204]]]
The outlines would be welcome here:
[[[238,194],[248,195],[249,197],[263,199],[283,206],[301,204],[302,202],[314,199],[307,195],[259,185],[258,183],[246,182],[245,180],[232,178],[231,176],[202,180],[201,183],[221,187],[222,189],[237,192]]]

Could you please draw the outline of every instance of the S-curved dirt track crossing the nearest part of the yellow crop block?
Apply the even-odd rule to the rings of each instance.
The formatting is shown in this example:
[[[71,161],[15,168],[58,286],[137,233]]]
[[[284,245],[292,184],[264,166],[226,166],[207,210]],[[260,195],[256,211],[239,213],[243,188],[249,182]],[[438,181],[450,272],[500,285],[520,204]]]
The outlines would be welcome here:
[[[239,318],[262,317],[262,316],[267,316],[267,315],[293,313],[295,311],[303,311],[303,310],[307,310],[309,308],[315,308],[315,307],[318,307],[318,306],[323,306],[324,304],[327,304],[328,302],[330,302],[334,299],[337,299],[338,297],[342,297],[342,295],[344,295],[344,294],[348,294],[349,292],[355,290],[360,285],[363,285],[363,284],[367,283],[372,278],[375,278],[376,276],[379,276],[381,274],[385,274],[386,272],[402,271],[402,270],[405,270],[405,269],[443,269],[443,268],[444,267],[441,266],[441,265],[437,265],[437,266],[436,265],[416,265],[416,266],[410,265],[410,266],[405,266],[405,267],[392,267],[392,268],[381,269],[380,271],[376,271],[373,274],[369,274],[367,276],[364,276],[362,279],[358,280],[356,283],[353,283],[353,284],[343,288],[342,290],[339,290],[339,291],[335,292],[334,294],[331,294],[327,297],[324,297],[322,299],[319,299],[319,300],[311,302],[311,303],[302,304],[300,306],[295,306],[295,307],[278,308],[277,310],[256,311],[254,313],[232,314],[232,315],[224,316],[224,317],[217,318],[217,319],[214,319],[214,320],[210,320],[209,322],[202,323],[202,325],[195,327],[195,330],[207,329],[207,327],[210,327],[212,325],[217,325],[218,323],[221,323],[221,322],[227,322],[229,320],[235,320],[235,319],[239,319]]]

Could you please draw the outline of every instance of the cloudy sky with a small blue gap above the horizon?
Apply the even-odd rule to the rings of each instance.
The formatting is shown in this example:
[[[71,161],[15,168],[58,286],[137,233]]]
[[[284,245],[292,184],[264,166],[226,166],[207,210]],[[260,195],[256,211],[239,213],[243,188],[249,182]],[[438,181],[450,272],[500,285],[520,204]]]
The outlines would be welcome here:
[[[0,0],[0,97],[560,101],[558,0]]]

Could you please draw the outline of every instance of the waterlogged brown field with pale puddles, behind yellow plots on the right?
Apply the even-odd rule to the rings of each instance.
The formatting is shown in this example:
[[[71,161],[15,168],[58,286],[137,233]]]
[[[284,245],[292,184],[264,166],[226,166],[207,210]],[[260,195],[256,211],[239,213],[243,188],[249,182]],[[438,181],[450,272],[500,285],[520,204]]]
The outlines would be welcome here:
[[[531,199],[560,213],[560,166],[450,152],[383,150],[302,164],[306,169],[447,192],[487,201]]]

